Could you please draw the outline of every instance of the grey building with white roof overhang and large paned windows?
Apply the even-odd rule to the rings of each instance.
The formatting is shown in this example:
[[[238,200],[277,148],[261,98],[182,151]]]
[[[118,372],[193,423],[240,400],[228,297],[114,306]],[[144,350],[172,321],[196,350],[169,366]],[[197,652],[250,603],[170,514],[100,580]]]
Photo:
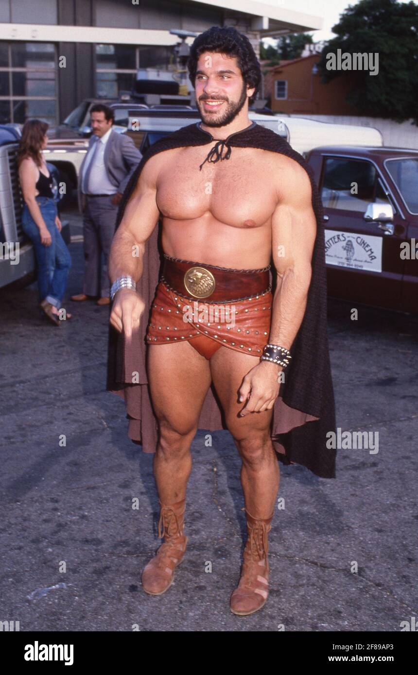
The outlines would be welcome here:
[[[117,98],[138,68],[168,67],[172,29],[232,25],[258,50],[263,36],[321,24],[255,0],[0,0],[0,123],[53,125],[84,98]]]

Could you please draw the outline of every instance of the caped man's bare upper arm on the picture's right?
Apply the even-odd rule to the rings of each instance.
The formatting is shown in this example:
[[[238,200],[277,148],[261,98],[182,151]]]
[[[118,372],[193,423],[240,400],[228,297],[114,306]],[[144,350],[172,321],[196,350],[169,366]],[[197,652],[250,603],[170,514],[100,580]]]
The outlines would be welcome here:
[[[310,271],[316,234],[309,175],[300,165],[292,166],[281,181],[271,219],[271,254],[279,275],[288,268]]]

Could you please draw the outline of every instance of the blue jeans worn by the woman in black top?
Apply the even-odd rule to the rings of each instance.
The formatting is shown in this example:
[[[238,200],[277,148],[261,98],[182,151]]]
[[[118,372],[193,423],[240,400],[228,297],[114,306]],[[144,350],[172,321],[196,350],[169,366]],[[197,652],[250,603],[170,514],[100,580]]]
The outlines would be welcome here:
[[[36,202],[41,210],[48,232],[51,234],[51,246],[44,246],[41,242],[38,225],[30,215],[26,203],[22,211],[22,229],[34,245],[38,266],[39,302],[47,300],[59,309],[66,292],[68,273],[71,268],[70,251],[61,236],[61,232],[58,232],[57,225],[55,225],[55,217],[57,216],[55,201],[51,197],[38,196]]]

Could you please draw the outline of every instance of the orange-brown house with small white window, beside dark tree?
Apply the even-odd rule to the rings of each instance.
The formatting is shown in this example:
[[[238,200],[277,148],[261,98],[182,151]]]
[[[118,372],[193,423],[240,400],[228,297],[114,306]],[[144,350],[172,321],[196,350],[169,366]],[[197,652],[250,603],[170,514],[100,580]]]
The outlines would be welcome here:
[[[320,54],[282,61],[271,73],[271,110],[275,113],[308,115],[358,115],[346,103],[355,74],[344,73],[328,84],[321,84],[317,69]]]

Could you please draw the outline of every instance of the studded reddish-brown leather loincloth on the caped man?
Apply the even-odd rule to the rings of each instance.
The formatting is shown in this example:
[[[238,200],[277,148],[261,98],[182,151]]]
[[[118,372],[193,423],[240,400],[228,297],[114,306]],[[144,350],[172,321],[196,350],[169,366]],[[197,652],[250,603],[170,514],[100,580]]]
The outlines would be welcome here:
[[[217,281],[217,298],[222,297],[221,275],[217,273],[217,268],[205,265],[205,263],[188,263],[188,265],[201,265],[213,270]],[[228,270],[228,272],[234,271]],[[184,276],[183,271],[181,278],[182,276]],[[235,296],[237,293],[242,297],[248,294],[251,288],[250,279],[251,275],[246,272],[240,275],[240,283],[237,282],[234,285]],[[178,283],[179,286],[180,283]],[[207,359],[211,358],[212,354],[222,346],[259,357],[269,340],[273,296],[271,290],[268,289],[267,283],[267,290],[251,298],[236,302],[232,300],[219,302],[218,300],[211,303],[190,296],[186,297],[177,290],[172,290],[165,280],[161,279],[157,286],[151,320],[147,327],[147,344],[166,344],[188,340],[199,354]],[[182,292],[186,293],[187,290],[182,288]]]

